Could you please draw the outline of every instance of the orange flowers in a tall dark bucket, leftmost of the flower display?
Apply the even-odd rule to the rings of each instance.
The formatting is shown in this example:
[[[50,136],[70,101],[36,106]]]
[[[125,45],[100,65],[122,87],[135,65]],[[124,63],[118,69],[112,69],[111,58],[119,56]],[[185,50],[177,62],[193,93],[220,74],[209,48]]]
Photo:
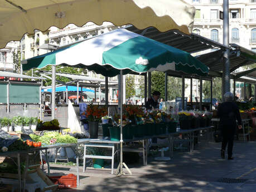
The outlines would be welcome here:
[[[86,117],[89,120],[90,138],[98,138],[99,122],[106,115],[108,115],[108,110],[105,106],[93,105],[93,102],[87,106]]]

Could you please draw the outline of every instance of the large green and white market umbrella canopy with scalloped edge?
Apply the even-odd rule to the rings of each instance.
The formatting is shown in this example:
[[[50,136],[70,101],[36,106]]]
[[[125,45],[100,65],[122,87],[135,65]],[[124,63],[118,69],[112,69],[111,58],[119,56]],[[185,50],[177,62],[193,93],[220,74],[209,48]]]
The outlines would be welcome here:
[[[207,66],[190,53],[117,29],[75,45],[22,61],[23,70],[47,65],[85,67],[103,76],[113,77],[131,71],[182,71],[206,76]]]

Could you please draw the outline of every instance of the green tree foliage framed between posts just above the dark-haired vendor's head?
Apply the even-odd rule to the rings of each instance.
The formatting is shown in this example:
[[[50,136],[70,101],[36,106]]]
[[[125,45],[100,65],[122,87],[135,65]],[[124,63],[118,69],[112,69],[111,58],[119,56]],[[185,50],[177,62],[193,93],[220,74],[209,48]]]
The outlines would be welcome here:
[[[151,92],[161,92],[161,98],[165,98],[165,73],[153,71],[151,73]]]

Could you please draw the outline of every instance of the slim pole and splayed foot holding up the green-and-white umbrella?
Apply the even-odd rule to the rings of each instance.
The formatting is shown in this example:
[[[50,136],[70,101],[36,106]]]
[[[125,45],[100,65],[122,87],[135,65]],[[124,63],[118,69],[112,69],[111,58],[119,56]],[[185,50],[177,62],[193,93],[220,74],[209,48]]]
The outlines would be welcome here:
[[[117,175],[124,175],[123,166],[127,169],[130,175],[132,172],[123,162],[123,70],[120,70],[120,163],[117,168]],[[120,170],[119,170],[120,169]]]

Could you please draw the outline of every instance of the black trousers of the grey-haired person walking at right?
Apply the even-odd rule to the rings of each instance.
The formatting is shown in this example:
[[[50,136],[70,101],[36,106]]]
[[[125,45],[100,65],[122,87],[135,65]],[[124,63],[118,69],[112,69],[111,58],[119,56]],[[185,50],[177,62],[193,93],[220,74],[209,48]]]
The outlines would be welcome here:
[[[221,129],[223,134],[221,149],[225,151],[226,145],[228,145],[228,157],[231,157],[233,152],[235,128],[236,125],[223,125]]]

